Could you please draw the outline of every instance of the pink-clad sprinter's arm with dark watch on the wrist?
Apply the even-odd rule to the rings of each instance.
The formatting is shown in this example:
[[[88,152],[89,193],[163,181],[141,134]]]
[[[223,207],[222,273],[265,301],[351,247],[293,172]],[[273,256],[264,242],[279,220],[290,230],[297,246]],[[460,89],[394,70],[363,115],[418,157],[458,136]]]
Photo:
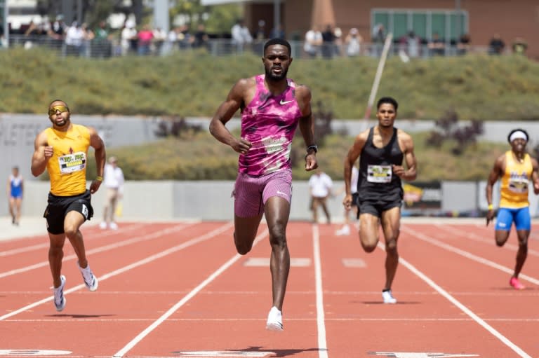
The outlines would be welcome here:
[[[295,99],[300,106],[302,117],[300,118],[300,132],[305,142],[305,147],[314,145],[314,121],[312,121],[311,90],[306,85],[298,85],[295,89]],[[312,149],[305,156],[305,170],[317,169],[317,153]]]

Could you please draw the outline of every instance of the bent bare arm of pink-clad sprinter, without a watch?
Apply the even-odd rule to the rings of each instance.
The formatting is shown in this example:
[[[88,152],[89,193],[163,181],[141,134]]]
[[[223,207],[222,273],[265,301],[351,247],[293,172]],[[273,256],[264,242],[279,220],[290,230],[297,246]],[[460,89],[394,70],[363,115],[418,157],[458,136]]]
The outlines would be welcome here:
[[[242,78],[228,93],[225,102],[222,102],[210,122],[210,133],[219,142],[227,144],[237,151],[237,153],[245,154],[253,144],[243,138],[237,139],[225,127],[225,124],[230,121],[234,113],[240,109],[241,104],[245,101],[246,94],[255,90],[255,81],[252,78]],[[254,92],[253,92],[254,95]]]

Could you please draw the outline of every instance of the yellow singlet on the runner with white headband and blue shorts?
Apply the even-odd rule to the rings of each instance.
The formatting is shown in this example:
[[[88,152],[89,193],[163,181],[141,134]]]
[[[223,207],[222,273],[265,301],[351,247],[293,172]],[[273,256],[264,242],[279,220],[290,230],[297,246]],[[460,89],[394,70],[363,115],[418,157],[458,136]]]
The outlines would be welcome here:
[[[505,172],[500,183],[500,207],[520,209],[527,207],[528,186],[531,182],[533,165],[528,153],[520,163],[514,158],[512,151],[505,152]]]

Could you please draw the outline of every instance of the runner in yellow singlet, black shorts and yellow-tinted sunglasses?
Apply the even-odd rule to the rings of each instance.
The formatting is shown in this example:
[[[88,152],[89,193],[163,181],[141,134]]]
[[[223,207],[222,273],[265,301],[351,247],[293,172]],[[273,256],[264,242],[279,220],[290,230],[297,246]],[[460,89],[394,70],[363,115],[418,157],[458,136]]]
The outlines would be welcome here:
[[[77,256],[77,266],[86,287],[98,289],[98,279],[93,275],[79,230],[84,221],[91,219],[93,208],[91,194],[98,191],[105,167],[105,144],[93,128],[71,123],[71,113],[64,101],[56,99],[48,106],[51,128],[39,133],[34,142],[32,174],[37,177],[47,170],[51,177],[51,192],[44,217],[47,221],[50,247],[48,263],[51,266],[54,286],[54,305],[61,311],[65,307],[63,289],[65,276],[61,275],[65,237],[69,239]],[[86,189],[88,147],[95,149],[98,176]]]

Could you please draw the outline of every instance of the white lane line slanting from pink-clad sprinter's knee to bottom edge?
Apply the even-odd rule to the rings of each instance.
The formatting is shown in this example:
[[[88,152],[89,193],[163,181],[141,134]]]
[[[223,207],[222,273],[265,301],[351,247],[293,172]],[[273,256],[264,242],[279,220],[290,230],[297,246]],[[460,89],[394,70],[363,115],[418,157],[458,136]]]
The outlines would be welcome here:
[[[257,245],[258,242],[260,242],[260,240],[262,240],[262,238],[266,237],[267,235],[268,235],[268,231],[265,230],[264,232],[260,233],[257,237],[255,237],[255,241],[253,242],[253,247],[255,247],[255,245]],[[232,264],[238,261],[241,257],[243,256],[241,256],[240,254],[235,254],[234,256],[232,256],[232,259],[229,259],[227,262],[223,263],[222,266],[218,268],[217,270],[215,270],[214,273],[209,275],[208,278],[206,278],[206,280],[204,280],[197,287],[192,289],[192,291],[190,291],[189,294],[185,295],[180,301],[175,303],[175,305],[173,305],[168,311],[166,311],[164,315],[162,315],[157,320],[155,320],[144,331],[140,332],[138,336],[133,338],[131,342],[127,343],[123,348],[121,348],[121,350],[116,352],[112,357],[114,358],[124,357],[124,355],[127,352],[129,352],[133,347],[135,347],[135,345],[137,345],[149,333],[151,333],[154,329],[156,329],[157,326],[159,326],[159,324],[163,323],[168,317],[171,317],[171,315],[173,315],[174,312],[176,312],[180,307],[182,307],[182,305],[185,305],[187,301],[189,301],[191,298],[196,296],[199,293],[199,291],[201,291],[201,289],[204,289],[204,287],[206,287],[213,280],[215,280],[215,278],[217,278],[220,274],[224,273],[225,270],[227,270],[230,266],[232,266]]]

